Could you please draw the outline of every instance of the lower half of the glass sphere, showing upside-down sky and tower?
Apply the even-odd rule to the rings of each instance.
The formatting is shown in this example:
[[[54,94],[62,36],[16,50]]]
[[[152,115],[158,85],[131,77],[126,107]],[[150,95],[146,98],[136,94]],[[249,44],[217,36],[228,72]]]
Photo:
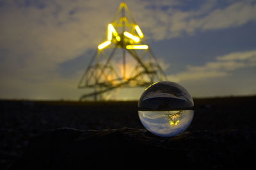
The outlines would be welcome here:
[[[191,124],[194,111],[139,111],[143,126],[157,136],[170,137],[185,131]]]

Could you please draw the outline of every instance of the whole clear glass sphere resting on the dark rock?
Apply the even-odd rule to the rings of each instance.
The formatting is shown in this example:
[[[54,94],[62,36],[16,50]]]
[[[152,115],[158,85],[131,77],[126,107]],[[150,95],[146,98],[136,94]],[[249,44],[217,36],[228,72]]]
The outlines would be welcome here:
[[[138,103],[138,114],[148,131],[170,137],[189,127],[194,117],[193,106],[193,99],[184,87],[161,81],[145,89]]]

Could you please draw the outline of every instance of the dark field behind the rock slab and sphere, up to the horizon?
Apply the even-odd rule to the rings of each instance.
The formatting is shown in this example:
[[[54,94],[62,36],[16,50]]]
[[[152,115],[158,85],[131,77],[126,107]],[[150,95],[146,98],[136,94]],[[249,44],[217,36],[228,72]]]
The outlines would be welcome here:
[[[255,101],[251,97],[194,99],[195,117],[187,131],[255,132]],[[49,129],[144,129],[138,101],[68,102],[0,101],[0,169],[22,155],[29,140]]]

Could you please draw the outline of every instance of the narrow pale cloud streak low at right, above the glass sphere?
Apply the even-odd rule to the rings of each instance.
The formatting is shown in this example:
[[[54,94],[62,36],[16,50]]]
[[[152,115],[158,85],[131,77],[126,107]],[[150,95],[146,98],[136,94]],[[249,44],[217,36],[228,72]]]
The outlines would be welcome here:
[[[232,71],[244,67],[256,66],[256,50],[233,52],[216,57],[215,61],[204,66],[187,66],[186,71],[168,76],[171,81],[196,81],[228,76]]]

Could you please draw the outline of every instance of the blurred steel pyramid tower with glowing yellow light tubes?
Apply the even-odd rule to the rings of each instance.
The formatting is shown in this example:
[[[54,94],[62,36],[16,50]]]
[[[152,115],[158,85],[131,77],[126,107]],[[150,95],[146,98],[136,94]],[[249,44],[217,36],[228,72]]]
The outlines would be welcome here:
[[[104,39],[78,84],[79,89],[93,88],[94,92],[84,94],[80,100],[94,96],[97,101],[103,93],[119,87],[147,87],[156,81],[166,80],[163,69],[125,3],[120,4],[113,22],[108,24]],[[133,66],[127,67],[127,59],[133,61]]]

